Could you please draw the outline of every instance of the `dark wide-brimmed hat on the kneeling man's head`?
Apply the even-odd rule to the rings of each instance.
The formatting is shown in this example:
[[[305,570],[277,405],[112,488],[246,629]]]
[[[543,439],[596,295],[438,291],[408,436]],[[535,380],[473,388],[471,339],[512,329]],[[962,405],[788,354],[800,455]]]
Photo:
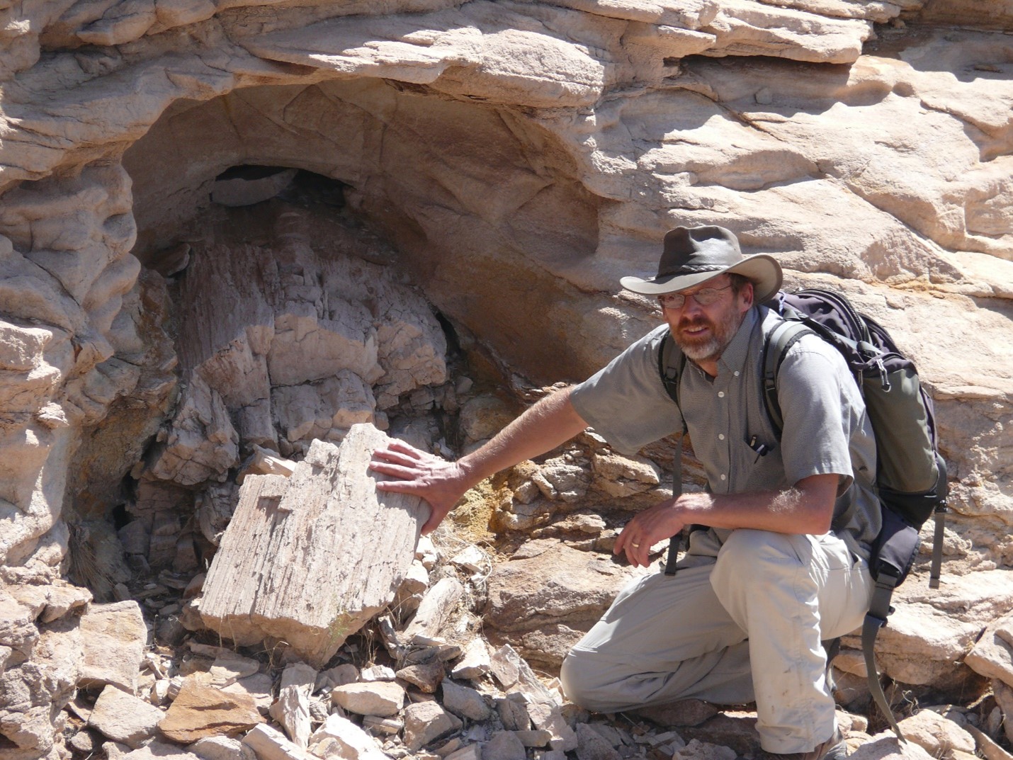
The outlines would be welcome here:
[[[665,236],[657,275],[644,280],[624,277],[626,290],[645,296],[692,288],[722,273],[753,281],[754,303],[763,303],[781,288],[783,275],[777,259],[766,253],[744,256],[738,238],[724,227],[676,227]]]

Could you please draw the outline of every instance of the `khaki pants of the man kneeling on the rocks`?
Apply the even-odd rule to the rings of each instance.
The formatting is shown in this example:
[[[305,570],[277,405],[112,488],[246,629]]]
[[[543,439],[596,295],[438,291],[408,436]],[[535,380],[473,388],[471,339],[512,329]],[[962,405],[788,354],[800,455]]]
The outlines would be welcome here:
[[[768,752],[808,752],[834,732],[823,639],[859,627],[872,581],[833,535],[693,533],[675,577],[623,589],[563,662],[566,695],[619,711],[695,697],[756,701]]]

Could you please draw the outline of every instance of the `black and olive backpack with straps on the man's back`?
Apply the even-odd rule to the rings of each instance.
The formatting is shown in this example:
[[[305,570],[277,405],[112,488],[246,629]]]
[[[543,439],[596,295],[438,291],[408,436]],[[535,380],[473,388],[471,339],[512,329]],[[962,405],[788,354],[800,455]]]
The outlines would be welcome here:
[[[886,330],[858,313],[843,295],[820,289],[779,292],[764,305],[783,319],[768,336],[762,357],[764,402],[778,438],[784,421],[777,400],[777,372],[788,350],[804,334],[816,334],[841,353],[865,399],[876,440],[876,489],[882,528],[869,557],[875,588],[862,625],[862,652],[869,691],[898,738],[906,741],[879,683],[873,648],[879,628],[892,612],[889,602],[893,589],[911,571],[918,553],[919,530],[930,515],[935,516],[935,537],[929,586],[939,588],[947,483],[946,465],[938,452],[932,399],[919,382],[914,363],[901,354]],[[675,367],[674,352],[680,357]],[[666,391],[677,404],[679,378],[685,365],[686,357],[678,351],[671,331],[666,332],[658,351],[658,372]],[[680,488],[681,456],[676,460],[674,480],[676,488]],[[843,527],[850,519],[850,511],[836,516],[832,529]],[[679,536],[672,539],[668,575],[675,575],[680,541]]]

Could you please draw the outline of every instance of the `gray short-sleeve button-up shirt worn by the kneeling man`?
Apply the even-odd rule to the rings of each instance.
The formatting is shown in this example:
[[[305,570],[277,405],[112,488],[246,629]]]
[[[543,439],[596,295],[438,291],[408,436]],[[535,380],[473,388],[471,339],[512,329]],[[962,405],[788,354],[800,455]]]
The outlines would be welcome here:
[[[880,518],[873,485],[875,440],[865,403],[841,355],[815,335],[805,335],[778,372],[784,419],[778,441],[764,406],[761,363],[764,336],[779,320],[766,307],[747,312],[714,378],[687,362],[682,409],[669,397],[658,372],[667,325],[575,386],[570,399],[580,416],[624,453],[679,432],[685,417],[714,493],[781,490],[809,475],[840,475],[836,514],[852,504],[855,508],[838,534],[867,558]]]

